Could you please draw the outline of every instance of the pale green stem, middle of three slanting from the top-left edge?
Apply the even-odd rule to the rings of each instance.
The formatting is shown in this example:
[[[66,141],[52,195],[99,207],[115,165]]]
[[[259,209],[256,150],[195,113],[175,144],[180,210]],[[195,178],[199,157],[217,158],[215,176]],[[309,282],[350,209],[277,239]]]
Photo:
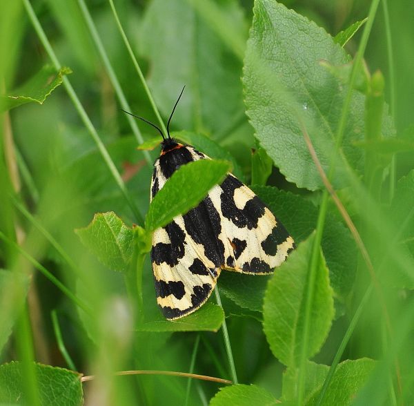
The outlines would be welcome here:
[[[124,92],[121,88],[121,85],[119,84],[117,75],[115,74],[114,68],[112,68],[112,64],[110,63],[110,60],[108,58],[108,54],[106,53],[106,50],[103,46],[103,43],[101,41],[101,38],[99,37],[99,33],[97,31],[97,28],[95,26],[95,23],[92,20],[92,17],[90,16],[90,12],[88,8],[86,7],[85,1],[78,0],[79,8],[81,9],[83,18],[85,19],[86,26],[88,26],[88,30],[90,32],[90,35],[92,37],[92,40],[95,43],[95,46],[97,47],[97,50],[99,52],[99,55],[101,56],[101,59],[103,61],[103,66],[105,66],[106,72],[108,73],[108,77],[110,79],[110,82],[112,83],[112,86],[114,86],[115,93],[117,93],[117,97],[119,99],[119,103],[121,104],[121,107],[124,110],[130,111],[130,105],[128,104],[128,101],[126,101],[126,97],[124,95]],[[130,115],[127,115],[126,119],[128,119],[128,122],[132,128],[132,133],[134,133],[135,138],[137,139],[137,142],[139,144],[142,144],[144,142],[144,139],[142,138],[141,131],[139,131],[137,121],[133,119]],[[150,154],[148,151],[142,151],[144,153],[144,157],[146,159],[146,162],[148,164],[152,165],[152,160],[150,157]]]

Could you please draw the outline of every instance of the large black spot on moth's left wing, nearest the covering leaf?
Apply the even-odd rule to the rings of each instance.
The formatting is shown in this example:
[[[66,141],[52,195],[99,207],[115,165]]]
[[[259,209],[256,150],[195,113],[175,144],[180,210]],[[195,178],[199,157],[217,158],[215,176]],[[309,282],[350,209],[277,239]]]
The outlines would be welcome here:
[[[170,242],[155,244],[151,250],[151,260],[157,265],[166,262],[170,267],[174,267],[178,264],[178,260],[184,257],[186,234],[176,222],[170,222],[164,229],[170,238]]]

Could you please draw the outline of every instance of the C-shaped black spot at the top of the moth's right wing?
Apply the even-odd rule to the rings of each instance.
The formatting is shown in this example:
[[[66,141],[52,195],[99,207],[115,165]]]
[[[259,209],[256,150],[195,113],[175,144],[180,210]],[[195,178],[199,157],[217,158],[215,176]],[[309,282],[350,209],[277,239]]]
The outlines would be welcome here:
[[[239,209],[235,204],[235,190],[244,186],[237,178],[228,175],[220,185],[221,193],[221,213],[225,218],[231,220],[236,226],[249,230],[257,227],[259,218],[264,215],[265,205],[259,197],[255,196],[246,202],[243,209]]]

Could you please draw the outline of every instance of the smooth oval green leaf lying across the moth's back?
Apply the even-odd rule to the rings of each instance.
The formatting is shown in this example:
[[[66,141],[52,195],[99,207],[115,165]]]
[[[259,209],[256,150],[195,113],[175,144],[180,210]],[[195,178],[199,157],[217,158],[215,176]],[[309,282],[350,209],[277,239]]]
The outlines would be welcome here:
[[[146,215],[146,229],[154,231],[197,206],[230,171],[224,161],[199,160],[181,166],[155,195]]]

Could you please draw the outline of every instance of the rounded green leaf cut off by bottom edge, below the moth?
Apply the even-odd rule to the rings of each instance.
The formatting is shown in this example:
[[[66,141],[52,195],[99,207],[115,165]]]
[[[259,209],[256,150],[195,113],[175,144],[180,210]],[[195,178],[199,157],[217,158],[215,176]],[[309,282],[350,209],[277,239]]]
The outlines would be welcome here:
[[[256,385],[233,385],[221,388],[210,401],[210,406],[276,406],[280,402],[262,387]]]

